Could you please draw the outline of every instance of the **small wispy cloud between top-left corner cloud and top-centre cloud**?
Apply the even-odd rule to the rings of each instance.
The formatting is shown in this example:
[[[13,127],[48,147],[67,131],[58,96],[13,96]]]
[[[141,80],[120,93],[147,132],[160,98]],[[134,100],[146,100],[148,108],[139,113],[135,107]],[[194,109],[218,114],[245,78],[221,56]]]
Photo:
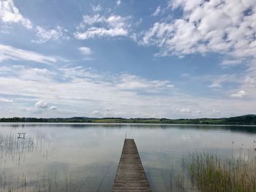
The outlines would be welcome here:
[[[32,40],[32,42],[45,43],[49,40],[59,41],[60,39],[69,39],[67,36],[67,29],[57,26],[56,29],[46,30],[41,26],[37,26],[37,37],[39,40]]]

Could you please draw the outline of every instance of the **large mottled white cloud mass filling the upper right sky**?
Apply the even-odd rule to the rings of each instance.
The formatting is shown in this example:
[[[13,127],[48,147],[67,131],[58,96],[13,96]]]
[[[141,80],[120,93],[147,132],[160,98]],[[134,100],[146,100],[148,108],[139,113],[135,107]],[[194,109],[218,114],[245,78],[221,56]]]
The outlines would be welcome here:
[[[181,16],[173,17],[177,16],[173,15],[177,10]],[[256,85],[251,83],[256,76],[254,1],[172,0],[165,14],[168,14],[167,17],[152,24],[138,38],[140,45],[158,47],[156,56],[219,53],[222,69],[244,64],[247,69],[243,72],[212,75],[205,80],[211,82],[208,87],[215,91],[222,91],[230,85],[233,91],[242,90],[246,96],[255,98]],[[243,92],[231,94],[237,99],[244,96]]]

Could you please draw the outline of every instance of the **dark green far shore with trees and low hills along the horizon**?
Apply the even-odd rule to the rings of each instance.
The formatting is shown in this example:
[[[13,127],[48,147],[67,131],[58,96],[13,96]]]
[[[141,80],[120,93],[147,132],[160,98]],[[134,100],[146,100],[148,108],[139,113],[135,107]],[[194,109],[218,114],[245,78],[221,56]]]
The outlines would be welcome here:
[[[256,125],[256,115],[232,118],[0,118],[5,123],[159,123],[159,124],[211,124],[211,125]]]

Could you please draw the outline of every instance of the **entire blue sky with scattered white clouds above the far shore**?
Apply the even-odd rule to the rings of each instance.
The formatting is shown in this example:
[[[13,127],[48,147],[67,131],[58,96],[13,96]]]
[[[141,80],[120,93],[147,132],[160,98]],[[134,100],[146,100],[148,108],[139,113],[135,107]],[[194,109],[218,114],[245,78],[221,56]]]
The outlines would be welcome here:
[[[0,0],[0,117],[256,113],[255,0]]]

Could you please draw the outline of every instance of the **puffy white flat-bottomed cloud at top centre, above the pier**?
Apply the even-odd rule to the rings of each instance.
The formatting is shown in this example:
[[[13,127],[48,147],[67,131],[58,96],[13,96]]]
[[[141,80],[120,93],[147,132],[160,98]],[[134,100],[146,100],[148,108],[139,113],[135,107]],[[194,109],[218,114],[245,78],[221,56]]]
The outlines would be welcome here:
[[[126,37],[129,34],[129,18],[120,15],[83,15],[83,22],[75,32],[77,39],[91,39],[94,37]]]

